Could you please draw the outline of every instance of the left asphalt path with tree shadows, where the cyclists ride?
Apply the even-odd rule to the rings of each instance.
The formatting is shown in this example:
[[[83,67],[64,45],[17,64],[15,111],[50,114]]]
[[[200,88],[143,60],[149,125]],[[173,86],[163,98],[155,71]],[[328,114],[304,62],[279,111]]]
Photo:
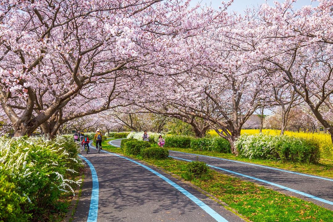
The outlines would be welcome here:
[[[244,221],[206,195],[159,169],[149,166],[150,171],[130,158],[105,153],[103,150],[98,154],[94,148],[91,148],[88,154],[82,150],[81,155],[82,158],[86,158],[86,162],[89,161],[89,165],[85,167],[86,177],[74,215],[75,222]],[[91,166],[96,171],[95,177],[98,178],[97,201],[92,200],[96,197],[96,178],[93,181],[94,173],[92,174]],[[167,180],[173,181],[187,193],[179,191],[180,188],[170,185]],[[95,190],[92,192],[93,186]],[[92,207],[92,204],[96,207],[96,202],[97,208]],[[90,209],[94,212],[90,212]]]

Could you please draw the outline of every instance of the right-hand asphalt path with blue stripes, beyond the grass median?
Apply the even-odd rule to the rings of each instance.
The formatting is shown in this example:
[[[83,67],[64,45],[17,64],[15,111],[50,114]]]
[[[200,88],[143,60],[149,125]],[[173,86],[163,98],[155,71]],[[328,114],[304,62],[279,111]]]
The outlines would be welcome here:
[[[116,146],[120,146],[120,142],[121,139],[112,141]],[[333,210],[333,179],[172,150],[169,150],[169,155],[172,158],[184,161],[198,159],[207,163],[214,170],[264,185],[287,195],[296,196]]]

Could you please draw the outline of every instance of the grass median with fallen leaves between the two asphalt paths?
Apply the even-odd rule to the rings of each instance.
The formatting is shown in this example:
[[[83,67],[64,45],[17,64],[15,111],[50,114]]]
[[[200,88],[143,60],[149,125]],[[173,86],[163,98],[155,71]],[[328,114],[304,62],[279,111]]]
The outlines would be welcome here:
[[[108,140],[110,141],[110,140]],[[105,141],[102,146],[115,153],[123,153],[121,148],[114,147]],[[156,160],[131,156],[150,165],[154,165],[176,175],[186,177],[188,162],[172,158]],[[211,170],[212,178],[208,180],[192,179],[191,183],[228,204],[234,212],[254,222],[263,221],[333,221],[333,211],[305,200],[287,196],[264,186]]]

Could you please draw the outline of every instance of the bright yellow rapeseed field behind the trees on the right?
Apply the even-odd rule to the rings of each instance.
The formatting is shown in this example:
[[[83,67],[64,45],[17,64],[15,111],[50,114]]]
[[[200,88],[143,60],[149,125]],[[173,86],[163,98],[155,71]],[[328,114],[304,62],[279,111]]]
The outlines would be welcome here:
[[[276,129],[263,129],[262,133],[270,135],[280,135],[280,130]],[[211,136],[217,136],[217,133],[214,130],[209,130],[207,132]],[[242,129],[241,134],[257,134],[259,129]],[[333,144],[331,141],[331,135],[329,133],[304,133],[304,132],[292,132],[285,131],[285,135],[294,136],[298,138],[306,138],[312,141],[315,141],[319,144],[322,158],[333,159]]]

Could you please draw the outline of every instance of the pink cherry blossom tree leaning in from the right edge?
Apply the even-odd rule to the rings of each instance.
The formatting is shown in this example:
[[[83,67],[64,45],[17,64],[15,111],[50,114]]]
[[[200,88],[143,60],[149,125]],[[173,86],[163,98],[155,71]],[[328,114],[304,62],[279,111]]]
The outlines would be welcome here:
[[[290,84],[303,99],[318,121],[331,133],[333,127],[331,100],[333,94],[332,6],[329,0],[319,5],[293,9],[293,2],[263,4],[254,14],[248,14],[245,30],[251,35],[243,47],[250,58],[265,60],[265,69],[279,72],[276,79]],[[239,32],[238,36],[244,36]],[[329,107],[329,110],[325,109]]]

